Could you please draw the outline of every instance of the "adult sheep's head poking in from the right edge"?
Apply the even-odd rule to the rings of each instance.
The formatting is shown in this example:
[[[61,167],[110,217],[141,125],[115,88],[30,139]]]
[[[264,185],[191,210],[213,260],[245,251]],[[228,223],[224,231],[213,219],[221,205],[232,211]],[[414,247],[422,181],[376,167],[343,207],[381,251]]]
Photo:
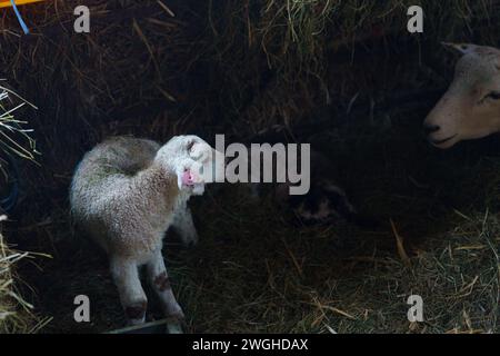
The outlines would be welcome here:
[[[446,44],[463,56],[450,88],[423,122],[429,141],[443,149],[500,131],[500,50]]]

